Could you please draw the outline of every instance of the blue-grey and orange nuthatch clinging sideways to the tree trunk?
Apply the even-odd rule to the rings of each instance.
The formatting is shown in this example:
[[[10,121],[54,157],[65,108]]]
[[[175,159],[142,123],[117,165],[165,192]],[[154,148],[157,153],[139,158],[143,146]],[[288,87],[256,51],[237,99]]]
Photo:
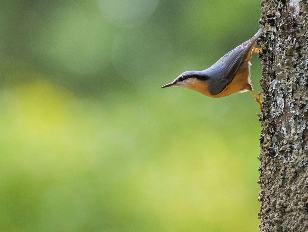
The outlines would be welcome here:
[[[262,110],[261,93],[258,97],[253,93],[250,84],[250,58],[253,52],[259,53],[255,48],[256,40],[262,34],[260,29],[251,39],[237,46],[215,64],[203,71],[187,71],[178,76],[171,83],[162,86],[182,86],[192,89],[208,97],[226,97],[232,93],[251,91]]]

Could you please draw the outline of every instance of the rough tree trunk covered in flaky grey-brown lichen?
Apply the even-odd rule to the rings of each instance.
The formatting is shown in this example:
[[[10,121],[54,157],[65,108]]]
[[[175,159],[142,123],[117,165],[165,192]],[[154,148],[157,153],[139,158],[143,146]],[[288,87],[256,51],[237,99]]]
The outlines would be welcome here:
[[[264,0],[260,231],[308,231],[307,0]]]

